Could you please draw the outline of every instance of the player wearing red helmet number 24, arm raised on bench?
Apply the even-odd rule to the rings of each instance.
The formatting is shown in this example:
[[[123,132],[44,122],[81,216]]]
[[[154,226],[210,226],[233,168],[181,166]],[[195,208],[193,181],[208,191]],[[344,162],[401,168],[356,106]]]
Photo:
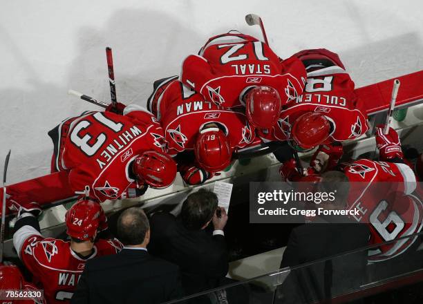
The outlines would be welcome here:
[[[36,218],[40,212],[36,203],[19,206],[13,245],[32,273],[33,283],[44,289],[47,302],[70,303],[86,261],[116,254],[122,244],[115,238],[97,239],[99,232],[107,228],[107,220],[100,203],[93,200],[79,200],[67,211],[66,234],[70,242],[44,238]]]

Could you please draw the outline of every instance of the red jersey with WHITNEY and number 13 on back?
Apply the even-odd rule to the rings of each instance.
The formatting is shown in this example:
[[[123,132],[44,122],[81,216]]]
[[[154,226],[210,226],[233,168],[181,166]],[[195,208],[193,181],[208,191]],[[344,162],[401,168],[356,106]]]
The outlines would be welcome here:
[[[89,112],[57,126],[57,170],[71,169],[69,183],[103,202],[120,198],[135,180],[129,165],[142,152],[166,151],[162,127],[151,113],[127,106],[125,115]],[[54,140],[53,140],[54,141]]]

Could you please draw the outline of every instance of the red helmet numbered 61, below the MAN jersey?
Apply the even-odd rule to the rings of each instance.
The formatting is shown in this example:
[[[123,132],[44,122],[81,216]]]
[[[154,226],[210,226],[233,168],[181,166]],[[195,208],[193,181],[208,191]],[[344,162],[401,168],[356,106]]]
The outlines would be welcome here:
[[[229,137],[216,127],[204,129],[197,136],[194,154],[203,169],[210,172],[222,171],[232,160]]]

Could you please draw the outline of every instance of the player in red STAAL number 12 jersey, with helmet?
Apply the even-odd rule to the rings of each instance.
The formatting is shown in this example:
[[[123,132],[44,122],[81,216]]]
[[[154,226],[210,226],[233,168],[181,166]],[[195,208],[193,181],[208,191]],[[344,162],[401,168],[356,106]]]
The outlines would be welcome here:
[[[281,107],[303,93],[306,70],[297,57],[281,61],[267,44],[230,31],[210,38],[198,55],[189,55],[180,80],[208,102],[245,106],[250,124],[270,128]]]

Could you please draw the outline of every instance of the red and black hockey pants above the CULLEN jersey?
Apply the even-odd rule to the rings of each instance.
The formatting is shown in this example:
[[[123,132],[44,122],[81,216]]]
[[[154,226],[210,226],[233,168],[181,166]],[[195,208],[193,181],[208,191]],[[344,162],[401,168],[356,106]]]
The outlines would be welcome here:
[[[339,56],[330,52],[330,50],[326,50],[326,48],[301,50],[301,52],[294,54],[294,56],[303,61],[308,72],[329,66],[339,66],[345,70],[345,66],[342,64]]]

